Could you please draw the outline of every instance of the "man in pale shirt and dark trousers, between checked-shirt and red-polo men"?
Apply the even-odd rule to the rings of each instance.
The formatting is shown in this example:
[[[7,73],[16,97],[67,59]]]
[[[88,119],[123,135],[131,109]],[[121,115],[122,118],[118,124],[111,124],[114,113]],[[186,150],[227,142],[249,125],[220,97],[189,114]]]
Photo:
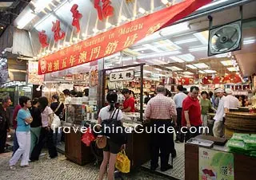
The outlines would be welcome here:
[[[177,127],[176,127],[176,139],[175,142],[183,142],[184,141],[184,135],[181,133],[182,128],[182,103],[183,100],[186,98],[186,94],[183,92],[183,86],[178,85],[178,94],[174,96],[174,103],[176,105],[176,111],[177,111]]]

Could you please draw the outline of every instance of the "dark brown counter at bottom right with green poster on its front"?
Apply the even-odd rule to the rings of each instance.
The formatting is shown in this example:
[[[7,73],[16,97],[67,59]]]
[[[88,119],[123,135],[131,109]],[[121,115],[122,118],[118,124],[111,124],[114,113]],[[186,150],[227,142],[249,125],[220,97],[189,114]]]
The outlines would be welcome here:
[[[195,179],[222,179],[220,178],[220,174],[214,174],[212,176],[215,176],[215,178],[202,178],[200,176],[200,171],[202,171],[202,166],[199,166],[199,161],[202,161],[202,157],[200,157],[200,148],[197,145],[186,143],[185,145],[185,179],[186,180],[195,180]],[[216,146],[210,148],[210,151],[215,152],[228,152],[228,148],[226,146]],[[207,157],[208,153],[207,151],[203,153],[205,158]],[[221,170],[223,170],[223,173],[226,173],[226,177],[229,174],[233,174],[234,180],[253,180],[255,179],[253,172],[256,167],[256,158],[246,156],[246,155],[238,155],[235,153],[229,153],[231,157],[234,157],[234,169],[231,167],[228,167],[227,170],[225,170],[225,166],[219,166]],[[203,159],[205,160],[205,159]],[[222,159],[214,158],[215,162],[222,163]],[[229,159],[230,160],[230,159]],[[230,160],[231,161],[231,160]],[[209,164],[205,164],[205,166],[212,167],[214,162],[211,162]],[[200,170],[200,171],[199,171]],[[204,169],[205,170],[205,169]],[[233,171],[234,170],[234,171]],[[217,177],[217,178],[216,178]],[[223,179],[232,179],[232,178],[223,178]]]

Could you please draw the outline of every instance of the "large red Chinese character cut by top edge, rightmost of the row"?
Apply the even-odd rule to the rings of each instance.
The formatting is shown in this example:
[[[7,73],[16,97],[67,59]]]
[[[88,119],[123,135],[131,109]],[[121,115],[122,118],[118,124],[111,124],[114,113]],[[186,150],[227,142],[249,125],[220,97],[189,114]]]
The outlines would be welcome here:
[[[98,11],[98,19],[111,17],[114,14],[114,7],[110,5],[110,0],[102,0],[102,7],[99,5],[101,0],[94,0],[94,8]]]

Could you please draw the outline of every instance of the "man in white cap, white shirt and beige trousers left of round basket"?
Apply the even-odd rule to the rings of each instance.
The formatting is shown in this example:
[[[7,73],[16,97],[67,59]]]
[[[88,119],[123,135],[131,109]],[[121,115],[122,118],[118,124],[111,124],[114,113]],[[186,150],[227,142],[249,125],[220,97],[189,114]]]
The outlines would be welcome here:
[[[224,135],[223,119],[225,117],[225,111],[227,110],[226,102],[225,102],[226,96],[224,96],[224,90],[221,88],[218,88],[217,90],[215,90],[215,93],[219,98],[219,103],[218,103],[218,109],[217,109],[216,115],[214,116],[213,132],[214,132],[214,137],[222,138],[222,136]]]

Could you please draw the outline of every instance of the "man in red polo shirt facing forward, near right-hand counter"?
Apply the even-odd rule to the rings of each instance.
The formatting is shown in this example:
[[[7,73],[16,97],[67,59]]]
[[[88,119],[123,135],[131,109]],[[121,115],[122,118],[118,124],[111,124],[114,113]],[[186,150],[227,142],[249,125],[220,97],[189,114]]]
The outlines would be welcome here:
[[[194,138],[199,135],[199,127],[202,125],[201,119],[201,107],[198,100],[199,88],[192,86],[190,88],[190,94],[183,100],[182,103],[182,129],[185,131],[184,127],[187,127],[185,141]],[[190,133],[188,131],[190,127],[195,127],[197,131],[195,133]],[[193,130],[194,131],[194,130]]]

